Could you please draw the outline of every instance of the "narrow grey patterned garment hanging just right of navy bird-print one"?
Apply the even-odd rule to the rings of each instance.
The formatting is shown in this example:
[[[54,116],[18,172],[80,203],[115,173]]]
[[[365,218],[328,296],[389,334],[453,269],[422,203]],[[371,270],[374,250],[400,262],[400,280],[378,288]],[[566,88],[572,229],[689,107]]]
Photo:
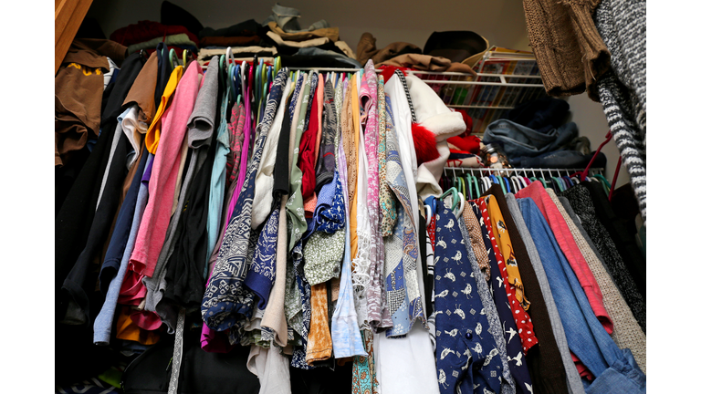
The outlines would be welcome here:
[[[467,249],[467,259],[470,260],[472,274],[475,276],[477,294],[479,294],[482,305],[485,307],[484,312],[487,314],[487,321],[489,322],[489,329],[487,329],[487,331],[492,334],[497,342],[501,366],[504,368],[504,381],[501,383],[501,392],[503,394],[514,394],[516,393],[516,382],[514,382],[514,378],[511,377],[511,371],[508,368],[507,340],[504,338],[504,330],[501,328],[497,306],[494,305],[494,299],[492,298],[492,293],[489,291],[485,275],[482,274],[482,270],[479,269],[475,251],[472,249],[472,243],[470,243],[470,233],[467,231],[465,221],[458,220],[456,222],[458,227],[460,227],[460,232],[463,233],[463,239],[465,240],[465,247]]]

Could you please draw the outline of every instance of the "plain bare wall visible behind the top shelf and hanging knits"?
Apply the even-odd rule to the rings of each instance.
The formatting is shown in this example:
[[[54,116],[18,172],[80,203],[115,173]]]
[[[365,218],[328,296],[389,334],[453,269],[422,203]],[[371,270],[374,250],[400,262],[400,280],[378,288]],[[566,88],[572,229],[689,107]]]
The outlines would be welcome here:
[[[193,14],[204,26],[221,28],[246,19],[262,22],[271,14],[274,1],[224,1],[224,0],[171,0]],[[319,19],[326,19],[331,26],[338,26],[340,39],[355,49],[362,33],[370,32],[377,39],[377,47],[385,47],[396,41],[409,42],[424,47],[434,31],[472,30],[487,38],[490,44],[528,50],[528,32],[523,5],[515,0],[404,0],[382,2],[373,0],[283,1],[282,5],[297,8],[301,12],[300,26],[309,26]],[[160,21],[159,0],[95,0],[88,12],[95,17],[105,35],[140,20]],[[577,123],[580,135],[591,140],[591,150],[596,150],[609,130],[599,103],[586,95],[569,99],[572,120]],[[603,150],[608,160],[606,176],[613,177],[618,161],[618,150],[610,142]],[[623,168],[618,185],[629,179]]]

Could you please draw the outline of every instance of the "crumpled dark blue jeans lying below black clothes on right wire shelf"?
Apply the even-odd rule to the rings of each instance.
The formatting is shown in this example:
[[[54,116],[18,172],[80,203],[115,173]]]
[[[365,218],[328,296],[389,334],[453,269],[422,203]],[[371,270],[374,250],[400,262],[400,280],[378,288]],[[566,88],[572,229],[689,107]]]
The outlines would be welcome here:
[[[511,159],[521,156],[533,157],[557,150],[575,137],[577,137],[577,125],[573,122],[543,133],[508,119],[498,119],[487,126],[482,140],[485,144],[501,143],[504,153]]]

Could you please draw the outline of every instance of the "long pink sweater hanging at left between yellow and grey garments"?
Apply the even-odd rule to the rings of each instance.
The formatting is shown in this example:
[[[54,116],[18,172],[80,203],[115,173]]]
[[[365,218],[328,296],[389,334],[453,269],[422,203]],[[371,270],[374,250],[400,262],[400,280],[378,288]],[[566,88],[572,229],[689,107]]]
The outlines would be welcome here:
[[[187,132],[187,120],[194,109],[202,67],[193,62],[178,83],[173,103],[162,116],[162,134],[153,158],[149,202],[143,212],[139,233],[129,263],[134,272],[151,277],[171,221],[180,151]]]

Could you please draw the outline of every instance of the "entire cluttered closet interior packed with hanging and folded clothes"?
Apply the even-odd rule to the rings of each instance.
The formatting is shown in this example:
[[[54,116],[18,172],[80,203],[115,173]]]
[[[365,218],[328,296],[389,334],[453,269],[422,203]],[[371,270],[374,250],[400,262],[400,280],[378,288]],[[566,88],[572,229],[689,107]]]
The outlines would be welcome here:
[[[645,392],[644,3],[239,3],[56,4],[56,392]]]

